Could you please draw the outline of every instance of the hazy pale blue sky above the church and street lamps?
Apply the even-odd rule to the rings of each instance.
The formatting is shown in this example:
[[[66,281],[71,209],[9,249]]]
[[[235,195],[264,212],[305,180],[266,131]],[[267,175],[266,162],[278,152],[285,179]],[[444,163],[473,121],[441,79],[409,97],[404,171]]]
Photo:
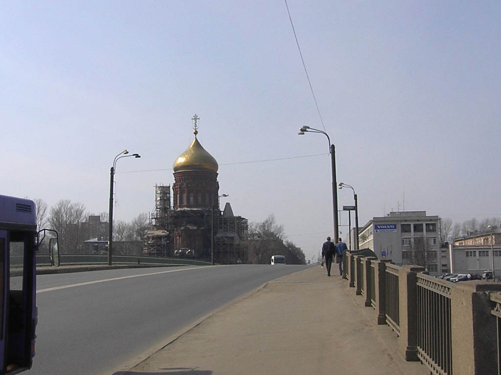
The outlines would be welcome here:
[[[287,4],[318,110],[285,1],[1,1],[0,193],[99,214],[126,148],[141,158],[117,162],[114,218],[130,221],[173,183],[196,113],[221,208],[274,214],[307,259],[333,236],[332,179],[303,125],[335,144],[360,226],[501,216],[501,2]]]

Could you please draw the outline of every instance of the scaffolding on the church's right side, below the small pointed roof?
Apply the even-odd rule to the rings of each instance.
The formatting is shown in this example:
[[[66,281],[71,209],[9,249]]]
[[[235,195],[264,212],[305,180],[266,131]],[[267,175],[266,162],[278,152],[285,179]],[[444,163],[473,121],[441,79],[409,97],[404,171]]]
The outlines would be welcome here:
[[[241,216],[220,216],[215,236],[217,261],[224,264],[247,262],[248,221]]]

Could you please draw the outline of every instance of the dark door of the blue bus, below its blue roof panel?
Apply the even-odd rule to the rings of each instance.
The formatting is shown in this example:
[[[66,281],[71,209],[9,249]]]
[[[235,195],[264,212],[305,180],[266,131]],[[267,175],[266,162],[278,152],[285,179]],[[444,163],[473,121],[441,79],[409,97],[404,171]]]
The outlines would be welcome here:
[[[3,251],[2,339],[0,374],[17,373],[32,365],[37,319],[35,299],[35,233],[0,230]]]

